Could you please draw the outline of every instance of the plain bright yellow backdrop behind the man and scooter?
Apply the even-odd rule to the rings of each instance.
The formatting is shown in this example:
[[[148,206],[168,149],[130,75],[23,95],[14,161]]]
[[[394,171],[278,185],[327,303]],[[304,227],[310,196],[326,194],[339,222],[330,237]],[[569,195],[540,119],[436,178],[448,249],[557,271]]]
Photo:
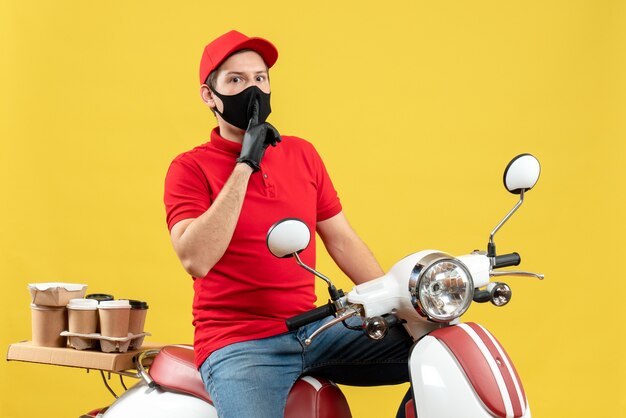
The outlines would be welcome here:
[[[515,203],[502,170],[541,179],[496,237],[543,282],[474,306],[536,417],[626,416],[623,1],[22,1],[0,4],[0,347],[30,338],[27,283],[145,299],[153,341],[192,341],[191,280],[169,243],[163,178],[214,125],[204,44],[271,39],[270,121],[312,141],[385,269],[407,253],[484,248]],[[320,250],[319,268],[349,288]],[[323,293],[320,293],[323,295]],[[355,418],[398,388],[347,388]],[[0,416],[77,417],[98,375],[0,362]]]

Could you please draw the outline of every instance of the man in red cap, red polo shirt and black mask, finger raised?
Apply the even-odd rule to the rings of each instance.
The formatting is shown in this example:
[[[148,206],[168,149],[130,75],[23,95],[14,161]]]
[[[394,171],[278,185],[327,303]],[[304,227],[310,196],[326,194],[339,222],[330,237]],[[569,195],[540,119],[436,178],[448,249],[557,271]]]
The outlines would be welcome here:
[[[165,181],[172,244],[194,278],[194,349],[221,418],[281,418],[301,374],[352,385],[408,380],[409,337],[381,343],[342,326],[303,341],[325,320],[287,332],[285,319],[312,309],[314,278],[266,248],[270,227],[302,219],[354,281],[383,275],[352,230],[314,147],[281,136],[271,112],[274,45],[231,31],[208,44],[200,95],[218,126],[210,142],[179,155]],[[315,240],[301,257],[315,265]]]

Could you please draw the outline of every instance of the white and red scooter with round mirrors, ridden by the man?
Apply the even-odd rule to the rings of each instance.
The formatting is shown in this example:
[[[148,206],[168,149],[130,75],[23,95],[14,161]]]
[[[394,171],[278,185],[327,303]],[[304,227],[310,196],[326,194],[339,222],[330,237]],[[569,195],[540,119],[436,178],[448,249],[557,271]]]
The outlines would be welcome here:
[[[504,171],[504,185],[519,200],[494,228],[487,251],[454,257],[437,250],[411,254],[384,276],[357,285],[345,294],[322,273],[307,266],[298,254],[309,244],[311,233],[298,219],[283,219],[267,234],[267,246],[276,257],[293,257],[304,269],[324,280],[327,304],[286,321],[290,330],[328,316],[334,318],[314,331],[305,344],[328,328],[349,318],[359,318],[362,330],[374,340],[385,338],[393,326],[403,326],[415,344],[408,365],[413,400],[406,416],[419,418],[530,418],[522,382],[504,348],[483,326],[461,323],[472,302],[504,306],[511,288],[491,278],[526,276],[527,271],[496,271],[517,266],[518,253],[496,254],[494,236],[524,202],[540,174],[538,160],[530,154],[515,157]],[[145,364],[152,360],[149,369]],[[217,413],[193,363],[189,346],[166,346],[141,353],[135,360],[139,383],[110,407],[81,418],[150,416],[216,418]],[[106,383],[106,382],[105,382]],[[286,418],[348,418],[350,409],[339,388],[325,379],[303,376],[292,388]]]

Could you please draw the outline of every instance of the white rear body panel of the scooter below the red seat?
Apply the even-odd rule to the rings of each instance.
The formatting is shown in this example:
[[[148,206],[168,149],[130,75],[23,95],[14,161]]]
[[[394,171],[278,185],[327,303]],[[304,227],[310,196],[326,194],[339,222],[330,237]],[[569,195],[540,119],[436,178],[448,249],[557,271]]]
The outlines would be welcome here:
[[[150,388],[139,382],[107,409],[103,418],[218,418],[208,402],[182,392]]]

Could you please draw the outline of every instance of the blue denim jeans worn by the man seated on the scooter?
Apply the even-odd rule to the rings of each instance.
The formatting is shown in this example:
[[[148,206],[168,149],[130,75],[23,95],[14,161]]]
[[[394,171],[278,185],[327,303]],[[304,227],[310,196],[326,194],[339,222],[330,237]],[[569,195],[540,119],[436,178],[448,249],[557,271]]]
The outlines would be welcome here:
[[[220,418],[283,418],[291,387],[306,374],[352,386],[409,381],[413,341],[404,328],[393,327],[385,339],[372,341],[362,331],[338,324],[305,346],[304,340],[330,319],[213,352],[200,373]],[[404,416],[403,407],[399,416]]]

